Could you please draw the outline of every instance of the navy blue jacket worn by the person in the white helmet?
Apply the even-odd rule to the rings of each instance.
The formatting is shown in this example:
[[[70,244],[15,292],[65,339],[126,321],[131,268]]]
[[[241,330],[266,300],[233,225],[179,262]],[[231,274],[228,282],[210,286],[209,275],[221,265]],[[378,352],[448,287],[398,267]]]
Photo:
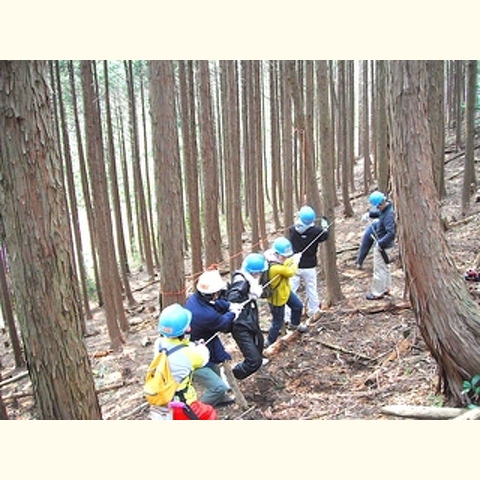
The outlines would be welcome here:
[[[212,304],[199,292],[190,295],[185,308],[192,312],[191,340],[203,339],[207,341],[217,332],[230,332],[235,315],[228,310],[229,306],[230,303],[222,299],[216,300]],[[211,363],[218,364],[232,359],[232,356],[225,350],[218,336],[213,338],[207,344],[207,347],[210,351]]]

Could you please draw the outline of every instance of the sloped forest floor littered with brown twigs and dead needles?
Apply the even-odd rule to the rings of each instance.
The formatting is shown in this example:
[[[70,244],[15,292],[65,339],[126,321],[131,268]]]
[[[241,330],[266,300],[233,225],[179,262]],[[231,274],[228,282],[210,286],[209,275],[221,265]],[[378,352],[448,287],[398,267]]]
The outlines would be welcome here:
[[[478,149],[475,152],[478,159]],[[463,276],[480,251],[480,203],[474,195],[470,212],[465,218],[460,216],[464,156],[452,149],[446,158],[447,198],[442,203],[442,217],[451,226],[446,236],[458,275]],[[360,161],[356,170],[360,175]],[[356,185],[361,184],[359,179],[360,176]],[[322,310],[307,333],[283,337],[268,364],[239,382],[248,407],[242,408],[238,402],[218,407],[219,418],[393,419],[395,417],[382,414],[381,408],[392,404],[443,404],[443,398],[436,392],[437,365],[404,298],[398,246],[394,249],[391,297],[373,302],[365,300],[372,278],[372,254],[367,257],[363,270],[355,268],[366,227],[361,216],[368,209],[367,199],[360,190],[353,194],[352,205],[353,217],[345,218],[339,207],[335,219],[337,267],[344,299]],[[475,297],[478,296],[476,285],[468,285]],[[156,338],[159,284],[149,280],[145,272],[138,272],[131,277],[131,287],[138,307],[128,310],[131,327],[121,352],[110,350],[101,309],[94,309],[94,318],[89,321],[89,330],[94,334],[86,338],[86,343],[106,420],[149,419],[142,386]],[[322,297],[324,282],[320,269],[319,290]],[[299,295],[304,298],[302,290]],[[262,328],[266,332],[270,315],[265,303],[260,303],[260,309]],[[18,372],[14,370],[8,333],[2,331],[0,337],[5,380]],[[231,336],[222,334],[221,337],[234,362],[240,360]],[[201,389],[198,390],[200,393]],[[11,419],[37,418],[28,377],[4,386],[2,396]]]

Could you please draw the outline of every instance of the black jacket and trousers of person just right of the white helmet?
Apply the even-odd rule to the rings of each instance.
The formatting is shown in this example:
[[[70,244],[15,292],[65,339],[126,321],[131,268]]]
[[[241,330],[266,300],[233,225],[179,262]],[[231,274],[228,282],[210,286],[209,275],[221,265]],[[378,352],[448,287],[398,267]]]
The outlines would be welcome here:
[[[233,375],[243,380],[262,366],[263,334],[258,322],[258,305],[250,298],[250,283],[241,271],[232,275],[227,299],[233,303],[246,302],[239,316],[233,321],[232,336],[243,354],[244,360],[237,363]]]

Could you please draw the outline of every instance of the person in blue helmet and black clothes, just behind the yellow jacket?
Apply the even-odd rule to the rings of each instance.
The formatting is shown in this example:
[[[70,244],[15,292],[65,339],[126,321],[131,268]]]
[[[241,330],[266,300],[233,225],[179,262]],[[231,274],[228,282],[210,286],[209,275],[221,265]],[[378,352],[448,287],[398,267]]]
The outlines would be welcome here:
[[[261,253],[249,253],[241,268],[233,272],[227,291],[227,300],[242,305],[232,324],[232,336],[244,357],[232,369],[238,380],[255,373],[263,363],[264,339],[259,325],[257,298],[263,292],[259,279],[266,270],[268,262],[265,257]]]

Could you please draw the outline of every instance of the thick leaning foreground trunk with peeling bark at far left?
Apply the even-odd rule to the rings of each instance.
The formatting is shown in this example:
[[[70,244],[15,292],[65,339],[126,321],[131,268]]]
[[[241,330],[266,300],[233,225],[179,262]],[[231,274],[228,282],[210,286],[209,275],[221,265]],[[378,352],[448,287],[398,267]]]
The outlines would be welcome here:
[[[42,419],[100,419],[55,147],[46,64],[0,62],[0,214]]]

